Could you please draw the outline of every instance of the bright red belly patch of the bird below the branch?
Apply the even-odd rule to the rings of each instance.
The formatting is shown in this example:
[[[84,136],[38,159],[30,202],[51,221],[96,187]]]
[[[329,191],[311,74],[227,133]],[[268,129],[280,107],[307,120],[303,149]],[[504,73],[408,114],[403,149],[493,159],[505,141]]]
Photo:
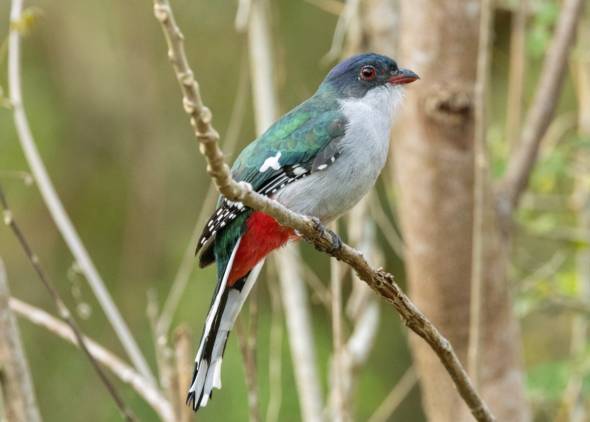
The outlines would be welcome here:
[[[234,264],[231,267],[228,285],[244,277],[258,262],[274,249],[284,246],[289,239],[297,236],[293,229],[280,226],[277,220],[265,213],[255,211],[246,221],[246,231],[235,253]]]

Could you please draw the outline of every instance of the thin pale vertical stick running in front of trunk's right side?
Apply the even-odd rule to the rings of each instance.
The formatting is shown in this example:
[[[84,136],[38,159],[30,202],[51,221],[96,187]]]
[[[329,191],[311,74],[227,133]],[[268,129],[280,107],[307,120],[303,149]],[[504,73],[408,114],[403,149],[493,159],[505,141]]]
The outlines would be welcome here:
[[[486,151],[486,93],[490,68],[492,8],[491,0],[480,2],[480,33],[477,53],[477,74],[474,86],[474,183],[473,183],[473,238],[471,246],[471,285],[469,310],[469,342],[467,369],[476,388],[480,385],[480,352],[484,284],[484,210],[488,163]]]

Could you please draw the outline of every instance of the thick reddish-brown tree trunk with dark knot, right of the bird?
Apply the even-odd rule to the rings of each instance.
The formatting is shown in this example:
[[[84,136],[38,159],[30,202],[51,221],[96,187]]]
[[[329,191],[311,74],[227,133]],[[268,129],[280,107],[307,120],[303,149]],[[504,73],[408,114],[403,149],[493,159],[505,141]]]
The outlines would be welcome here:
[[[467,363],[473,231],[473,88],[478,2],[402,2],[399,63],[421,80],[394,137],[411,298]],[[415,85],[415,86],[414,86]],[[499,421],[530,420],[507,264],[510,239],[484,183],[484,286],[480,391]],[[412,337],[430,421],[473,420],[429,346]]]

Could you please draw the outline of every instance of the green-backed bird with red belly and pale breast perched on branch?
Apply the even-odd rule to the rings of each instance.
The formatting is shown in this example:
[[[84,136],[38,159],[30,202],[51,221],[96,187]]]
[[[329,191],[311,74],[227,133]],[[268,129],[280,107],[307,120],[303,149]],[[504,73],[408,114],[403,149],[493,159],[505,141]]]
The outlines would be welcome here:
[[[395,60],[363,53],[337,64],[317,92],[278,119],[235,160],[231,176],[324,225],[348,212],[375,184],[388,155],[405,86],[419,79]],[[326,229],[328,230],[328,229]],[[342,245],[330,231],[333,249]],[[300,233],[219,196],[198,241],[199,267],[217,263],[217,286],[195,358],[186,404],[196,412],[221,388],[228,334],[271,251]],[[308,240],[309,239],[305,239]]]

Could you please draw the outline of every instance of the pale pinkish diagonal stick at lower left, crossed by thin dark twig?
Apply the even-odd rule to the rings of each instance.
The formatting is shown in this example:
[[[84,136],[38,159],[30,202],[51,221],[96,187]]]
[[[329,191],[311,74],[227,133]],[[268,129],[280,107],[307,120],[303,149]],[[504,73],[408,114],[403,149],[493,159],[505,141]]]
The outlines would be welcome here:
[[[79,347],[78,340],[71,327],[53,315],[14,297],[10,298],[10,308],[33,324],[45,327],[55,335]],[[168,400],[163,397],[162,393],[156,387],[147,384],[147,380],[143,375],[139,374],[132,366],[123,362],[122,359],[114,355],[110,350],[99,345],[99,343],[87,336],[84,336],[84,339],[94,359],[102,363],[106,368],[109,368],[121,381],[135,389],[137,394],[160,415],[163,421],[176,422]]]

